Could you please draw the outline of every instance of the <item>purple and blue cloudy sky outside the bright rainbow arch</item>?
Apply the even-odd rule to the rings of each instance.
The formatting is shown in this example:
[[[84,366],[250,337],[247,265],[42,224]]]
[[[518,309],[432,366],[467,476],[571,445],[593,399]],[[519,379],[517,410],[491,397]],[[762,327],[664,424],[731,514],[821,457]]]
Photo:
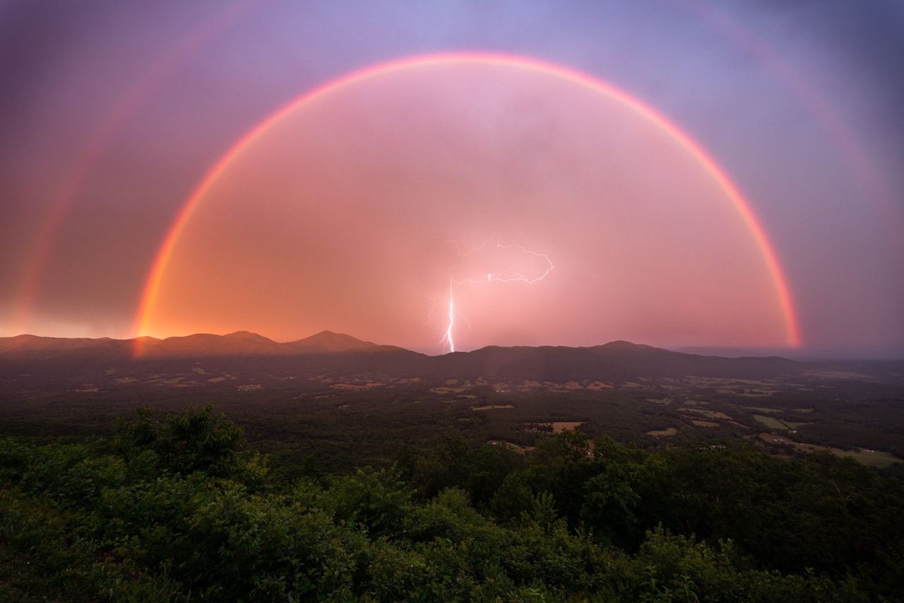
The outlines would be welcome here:
[[[481,51],[663,114],[749,199],[805,347],[901,353],[902,34],[882,1],[0,3],[0,335],[131,336],[174,216],[251,127],[367,65]]]

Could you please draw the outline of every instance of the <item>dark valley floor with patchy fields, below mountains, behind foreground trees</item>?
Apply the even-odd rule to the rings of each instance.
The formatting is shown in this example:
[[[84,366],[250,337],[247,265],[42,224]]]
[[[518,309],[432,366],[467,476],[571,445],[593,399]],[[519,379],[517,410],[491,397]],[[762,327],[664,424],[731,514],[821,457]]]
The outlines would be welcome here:
[[[329,470],[382,466],[402,446],[449,437],[533,447],[563,429],[641,447],[753,437],[779,455],[828,448],[885,467],[904,458],[896,366],[809,368],[753,380],[638,372],[581,379],[573,370],[567,379],[452,378],[392,366],[337,371],[291,358],[107,362],[46,373],[0,362],[0,431],[104,436],[137,406],[166,413],[212,403],[275,463],[316,456]],[[769,404],[751,405],[741,395],[750,388],[772,391]],[[784,439],[756,438],[761,432]]]

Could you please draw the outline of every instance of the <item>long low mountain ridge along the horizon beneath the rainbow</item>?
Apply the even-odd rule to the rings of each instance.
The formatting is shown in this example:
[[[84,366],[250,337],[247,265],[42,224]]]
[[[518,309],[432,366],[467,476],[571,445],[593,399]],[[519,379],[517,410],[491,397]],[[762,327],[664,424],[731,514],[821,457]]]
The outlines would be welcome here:
[[[140,354],[136,357],[136,351]],[[679,353],[624,341],[592,347],[498,347],[428,356],[392,345],[374,344],[330,331],[278,343],[259,334],[193,334],[155,339],[65,339],[18,335],[0,338],[0,360],[48,361],[60,367],[92,363],[178,363],[219,359],[231,366],[270,366],[303,372],[381,372],[426,378],[487,378],[569,382],[695,374],[762,377],[797,372],[801,364],[779,357],[721,358]]]

